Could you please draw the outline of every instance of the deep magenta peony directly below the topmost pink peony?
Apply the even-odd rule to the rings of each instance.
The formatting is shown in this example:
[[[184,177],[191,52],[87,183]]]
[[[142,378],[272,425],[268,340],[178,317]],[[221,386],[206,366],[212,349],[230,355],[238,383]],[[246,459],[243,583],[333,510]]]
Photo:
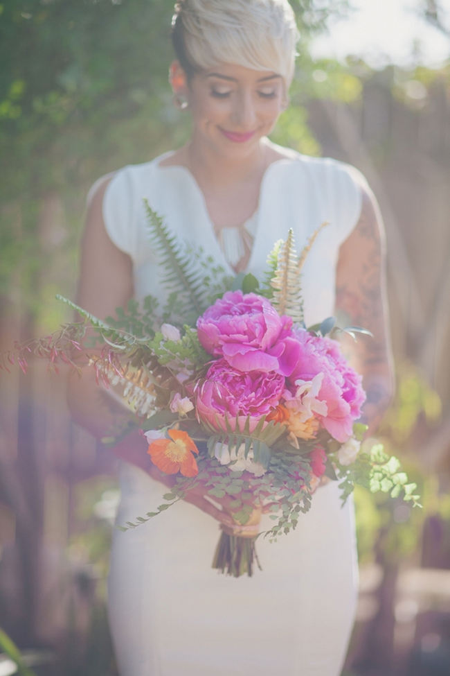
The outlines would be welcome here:
[[[215,429],[226,430],[225,419],[235,428],[236,417],[242,429],[250,417],[253,431],[263,415],[280,403],[285,378],[276,372],[233,369],[226,359],[217,359],[209,367],[204,379],[195,385],[197,418]]]

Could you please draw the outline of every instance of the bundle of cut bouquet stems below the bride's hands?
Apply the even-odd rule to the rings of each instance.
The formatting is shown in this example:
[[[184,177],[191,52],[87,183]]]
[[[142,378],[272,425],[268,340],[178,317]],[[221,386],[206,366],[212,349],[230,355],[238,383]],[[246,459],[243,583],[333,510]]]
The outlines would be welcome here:
[[[225,526],[215,550],[213,568],[239,578],[240,575],[253,575],[255,562],[260,570],[260,562],[256,553],[255,541],[260,532],[262,510],[255,508],[249,520],[241,525]]]

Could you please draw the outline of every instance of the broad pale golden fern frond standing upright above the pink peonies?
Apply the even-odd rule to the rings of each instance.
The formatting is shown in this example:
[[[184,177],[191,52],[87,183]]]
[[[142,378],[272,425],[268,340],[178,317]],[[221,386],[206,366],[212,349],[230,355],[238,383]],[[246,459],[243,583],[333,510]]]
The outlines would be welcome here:
[[[294,233],[289,229],[287,240],[280,246],[278,264],[271,281],[272,304],[280,315],[289,315],[294,322],[303,321],[303,306],[300,295],[300,273]]]

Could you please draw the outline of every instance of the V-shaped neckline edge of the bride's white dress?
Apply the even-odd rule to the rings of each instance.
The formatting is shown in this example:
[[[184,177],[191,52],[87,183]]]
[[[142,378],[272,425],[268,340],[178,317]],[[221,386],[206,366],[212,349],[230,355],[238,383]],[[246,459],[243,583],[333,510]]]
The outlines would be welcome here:
[[[208,232],[208,237],[213,245],[213,248],[215,249],[215,257],[217,260],[220,259],[222,261],[222,266],[224,267],[226,272],[228,272],[228,274],[236,275],[237,274],[236,270],[233,268],[233,266],[231,266],[231,263],[228,263],[224,251],[220,246],[219,239],[217,238],[217,234],[215,232],[215,225],[210,218],[208,206],[206,205],[206,198],[204,196],[204,192],[201,190],[201,187],[199,186],[195,176],[192,174],[192,171],[190,171],[190,169],[184,164],[165,164],[161,166],[161,162],[163,162],[165,159],[173,155],[175,152],[176,152],[175,150],[169,150],[168,153],[163,153],[163,155],[159,155],[159,157],[157,157],[155,160],[156,168],[161,172],[168,171],[168,173],[170,173],[170,170],[175,171],[176,173],[179,173],[179,175],[183,175],[184,177],[186,177],[186,179],[190,182],[194,190],[194,194],[197,200],[199,201],[201,216],[203,216],[203,220],[206,225],[206,232]],[[267,166],[264,173],[262,174],[260,182],[260,192],[258,196],[258,206],[256,207],[255,212],[253,212],[253,216],[251,216],[251,218],[254,217],[256,220],[254,228],[255,234],[253,237],[253,243],[251,246],[249,260],[247,261],[246,264],[246,270],[252,269],[253,261],[255,259],[255,255],[258,250],[261,235],[260,222],[262,220],[262,201],[264,199],[265,193],[267,192],[266,184],[269,181],[269,177],[273,175],[276,167],[280,165],[284,166],[285,164],[291,164],[292,162],[295,162],[296,159],[298,159],[299,157],[298,153],[295,153],[295,151],[292,151],[292,153],[293,153],[292,157],[280,157],[279,159],[274,159],[273,162],[271,162],[269,166]]]

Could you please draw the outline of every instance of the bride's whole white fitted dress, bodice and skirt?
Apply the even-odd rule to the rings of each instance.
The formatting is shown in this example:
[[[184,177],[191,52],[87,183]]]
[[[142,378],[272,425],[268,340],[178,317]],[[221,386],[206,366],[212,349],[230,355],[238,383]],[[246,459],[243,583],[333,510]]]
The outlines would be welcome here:
[[[105,193],[107,232],[132,257],[138,299],[164,297],[143,198],[177,237],[202,245],[231,272],[195,178],[182,166],[160,166],[168,155],[121,169]],[[292,153],[262,180],[247,268],[257,277],[290,227],[300,250],[330,222],[303,272],[307,324],[334,310],[339,246],[361,211],[355,171]],[[167,489],[123,462],[120,490],[117,522],[125,523],[154,510]],[[251,578],[211,569],[219,525],[189,503],[134,530],[116,530],[108,594],[120,676],[339,676],[357,602],[353,507],[348,501],[342,508],[339,495],[335,482],[319,488],[296,530],[273,544],[258,540],[263,570]]]

